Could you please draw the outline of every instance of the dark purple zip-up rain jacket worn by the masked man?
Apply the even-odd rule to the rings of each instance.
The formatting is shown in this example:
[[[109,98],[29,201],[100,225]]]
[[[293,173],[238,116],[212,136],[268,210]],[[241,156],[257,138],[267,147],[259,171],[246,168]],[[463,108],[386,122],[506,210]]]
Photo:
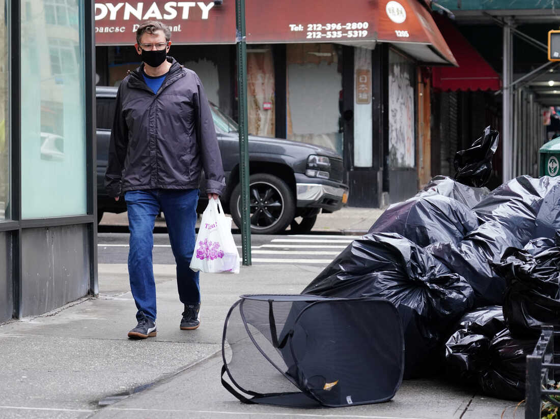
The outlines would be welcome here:
[[[196,189],[200,170],[207,194],[226,186],[216,129],[197,74],[171,57],[153,93],[140,68],[120,83],[105,189],[111,197],[142,189]]]

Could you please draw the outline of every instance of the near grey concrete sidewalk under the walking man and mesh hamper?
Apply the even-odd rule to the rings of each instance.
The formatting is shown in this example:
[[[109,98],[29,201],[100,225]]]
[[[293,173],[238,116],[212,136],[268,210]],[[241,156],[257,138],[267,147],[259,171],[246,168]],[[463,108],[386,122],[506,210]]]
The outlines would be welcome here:
[[[99,298],[0,326],[2,418],[512,418],[515,403],[442,379],[407,380],[393,401],[339,409],[249,406],[220,383],[221,339],[240,294],[300,293],[320,267],[255,265],[203,274],[202,324],[180,331],[175,267],[156,265],[157,337],[131,341],[126,265],[99,265]],[[516,417],[522,417],[522,408]]]

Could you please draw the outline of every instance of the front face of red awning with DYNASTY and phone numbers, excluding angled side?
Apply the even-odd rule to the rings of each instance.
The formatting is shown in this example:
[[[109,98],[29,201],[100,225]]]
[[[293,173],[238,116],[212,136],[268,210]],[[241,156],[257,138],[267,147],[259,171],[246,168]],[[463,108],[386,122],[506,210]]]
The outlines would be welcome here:
[[[317,7],[321,3],[322,7]],[[339,42],[375,40],[376,7],[370,0],[332,3],[245,0],[246,40],[268,42]],[[96,45],[134,41],[138,25],[158,20],[169,26],[177,44],[234,44],[235,1],[95,2]]]

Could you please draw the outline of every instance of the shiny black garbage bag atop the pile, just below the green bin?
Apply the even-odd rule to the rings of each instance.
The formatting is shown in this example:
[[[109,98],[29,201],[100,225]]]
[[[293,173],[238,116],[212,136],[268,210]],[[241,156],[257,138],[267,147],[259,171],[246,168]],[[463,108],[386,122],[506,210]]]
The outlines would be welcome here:
[[[502,224],[521,248],[531,239],[552,238],[560,228],[560,177],[519,176],[494,189],[473,210],[480,224]]]

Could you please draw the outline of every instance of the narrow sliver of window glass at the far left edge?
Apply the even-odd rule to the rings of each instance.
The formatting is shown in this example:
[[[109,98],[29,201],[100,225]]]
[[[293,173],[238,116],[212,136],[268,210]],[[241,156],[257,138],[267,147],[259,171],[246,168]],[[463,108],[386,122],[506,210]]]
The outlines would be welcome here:
[[[10,214],[10,92],[8,76],[10,55],[8,54],[8,26],[6,2],[0,4],[0,220],[11,219]]]

